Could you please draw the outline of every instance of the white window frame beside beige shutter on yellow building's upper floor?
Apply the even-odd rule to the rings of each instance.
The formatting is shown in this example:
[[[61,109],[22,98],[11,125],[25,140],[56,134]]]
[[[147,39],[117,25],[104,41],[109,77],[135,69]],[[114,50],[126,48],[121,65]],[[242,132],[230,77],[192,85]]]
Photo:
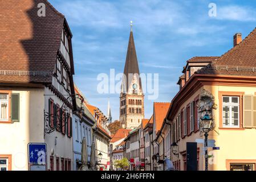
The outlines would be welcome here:
[[[224,103],[224,97],[229,97],[229,103]],[[232,99],[232,97],[237,98],[238,103],[232,103],[230,100]],[[223,121],[223,117],[224,117],[224,113],[223,113],[223,108],[224,106],[228,106],[229,107],[229,125],[224,125],[224,121]],[[232,106],[238,106],[238,125],[231,125],[232,123]],[[240,126],[240,97],[239,96],[222,96],[222,127],[239,127]]]

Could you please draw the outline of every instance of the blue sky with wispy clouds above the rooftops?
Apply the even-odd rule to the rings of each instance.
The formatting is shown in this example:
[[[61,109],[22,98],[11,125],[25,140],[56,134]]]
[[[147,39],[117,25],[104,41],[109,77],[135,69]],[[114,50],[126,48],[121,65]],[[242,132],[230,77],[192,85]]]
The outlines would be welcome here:
[[[193,56],[220,56],[233,47],[233,35],[243,38],[256,27],[256,1],[49,0],[71,28],[74,80],[90,104],[119,119],[119,94],[97,93],[99,73],[122,73],[133,20],[133,36],[141,73],[159,73],[159,97],[145,97],[145,118],[153,102],[170,102],[185,61]],[[216,3],[217,16],[208,15]],[[147,94],[146,94],[147,96]]]

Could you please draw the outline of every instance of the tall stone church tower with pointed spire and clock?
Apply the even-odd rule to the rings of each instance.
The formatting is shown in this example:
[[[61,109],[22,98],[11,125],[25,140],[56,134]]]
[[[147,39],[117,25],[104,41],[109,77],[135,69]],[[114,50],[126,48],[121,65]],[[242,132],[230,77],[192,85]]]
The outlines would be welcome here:
[[[119,121],[125,129],[133,129],[139,126],[142,119],[144,119],[144,94],[139,75],[131,21],[131,32],[120,93]]]

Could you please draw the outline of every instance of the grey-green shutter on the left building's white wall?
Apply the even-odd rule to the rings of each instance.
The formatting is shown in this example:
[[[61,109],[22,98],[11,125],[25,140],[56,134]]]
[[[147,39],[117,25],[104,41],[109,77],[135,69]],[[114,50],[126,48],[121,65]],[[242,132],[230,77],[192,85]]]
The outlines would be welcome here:
[[[19,122],[19,93],[11,94],[11,121]]]

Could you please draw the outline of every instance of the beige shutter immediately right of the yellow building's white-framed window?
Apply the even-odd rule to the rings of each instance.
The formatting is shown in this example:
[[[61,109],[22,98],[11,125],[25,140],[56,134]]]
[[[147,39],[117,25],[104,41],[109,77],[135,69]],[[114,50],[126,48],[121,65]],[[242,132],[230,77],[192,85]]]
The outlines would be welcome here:
[[[253,127],[253,96],[243,96],[243,127]]]

